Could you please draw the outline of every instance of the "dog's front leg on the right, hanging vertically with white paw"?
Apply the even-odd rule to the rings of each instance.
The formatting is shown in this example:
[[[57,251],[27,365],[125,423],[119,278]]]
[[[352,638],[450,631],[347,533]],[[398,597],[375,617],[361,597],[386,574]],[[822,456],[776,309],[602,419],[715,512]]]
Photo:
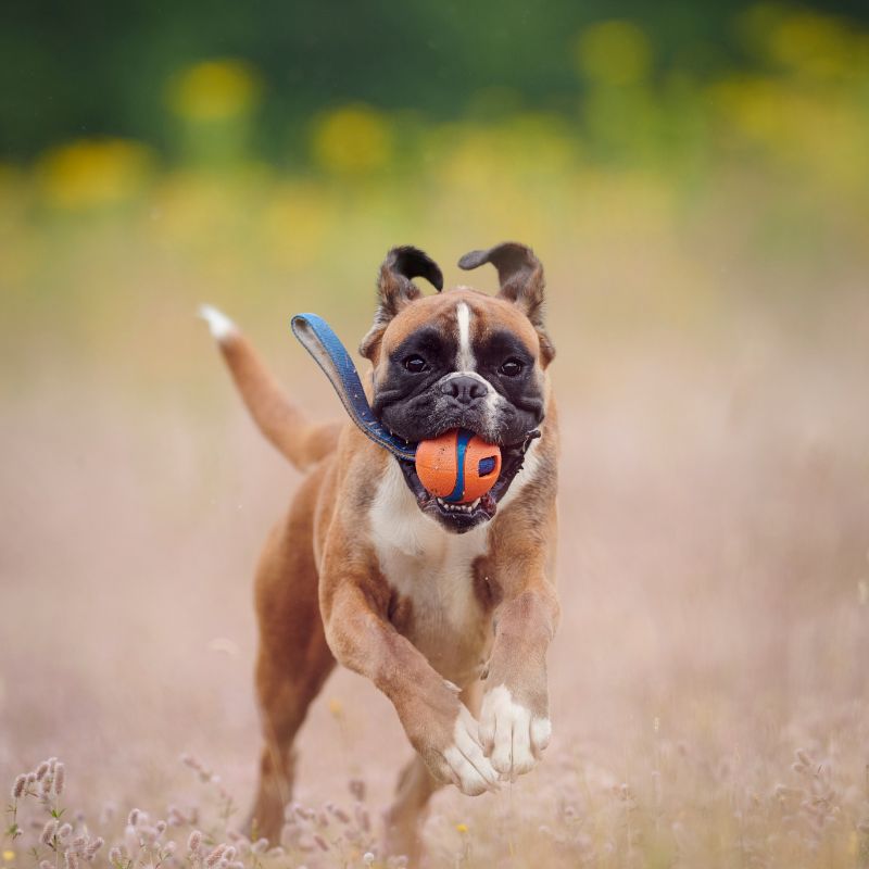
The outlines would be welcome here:
[[[552,725],[546,650],[558,621],[555,589],[542,571],[518,588],[507,582],[495,610],[495,640],[480,713],[480,740],[504,778],[531,770]]]

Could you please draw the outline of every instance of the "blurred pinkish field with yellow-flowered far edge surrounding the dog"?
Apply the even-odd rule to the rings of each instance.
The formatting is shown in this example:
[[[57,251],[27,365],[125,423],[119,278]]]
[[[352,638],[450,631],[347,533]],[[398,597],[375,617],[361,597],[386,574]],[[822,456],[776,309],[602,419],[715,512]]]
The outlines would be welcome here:
[[[558,349],[554,739],[499,794],[434,798],[430,865],[869,866],[869,79],[865,37],[826,33],[847,68],[816,46],[702,90],[603,83],[627,114],[590,100],[585,138],[350,106],[305,172],[104,141],[0,169],[0,781],[65,765],[62,793],[55,767],[5,801],[3,869],[387,864],[410,748],[343,671],[280,849],[236,832],[252,569],[300,478],[193,313],[222,306],[337,416],[290,315],[354,345],[390,245],[459,282],[506,238],[547,268]],[[676,141],[626,138],[640,109]],[[43,831],[61,809],[68,833]]]

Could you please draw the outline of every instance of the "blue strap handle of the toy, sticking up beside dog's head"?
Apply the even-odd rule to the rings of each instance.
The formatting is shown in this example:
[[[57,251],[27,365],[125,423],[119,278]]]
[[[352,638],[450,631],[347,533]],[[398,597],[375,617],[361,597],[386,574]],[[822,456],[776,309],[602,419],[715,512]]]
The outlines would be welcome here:
[[[365,398],[356,366],[331,326],[316,314],[297,314],[290,320],[290,328],[329,378],[338,398],[341,399],[341,404],[363,434],[398,458],[413,462],[416,456],[416,445],[408,444],[392,434],[377,420]]]

